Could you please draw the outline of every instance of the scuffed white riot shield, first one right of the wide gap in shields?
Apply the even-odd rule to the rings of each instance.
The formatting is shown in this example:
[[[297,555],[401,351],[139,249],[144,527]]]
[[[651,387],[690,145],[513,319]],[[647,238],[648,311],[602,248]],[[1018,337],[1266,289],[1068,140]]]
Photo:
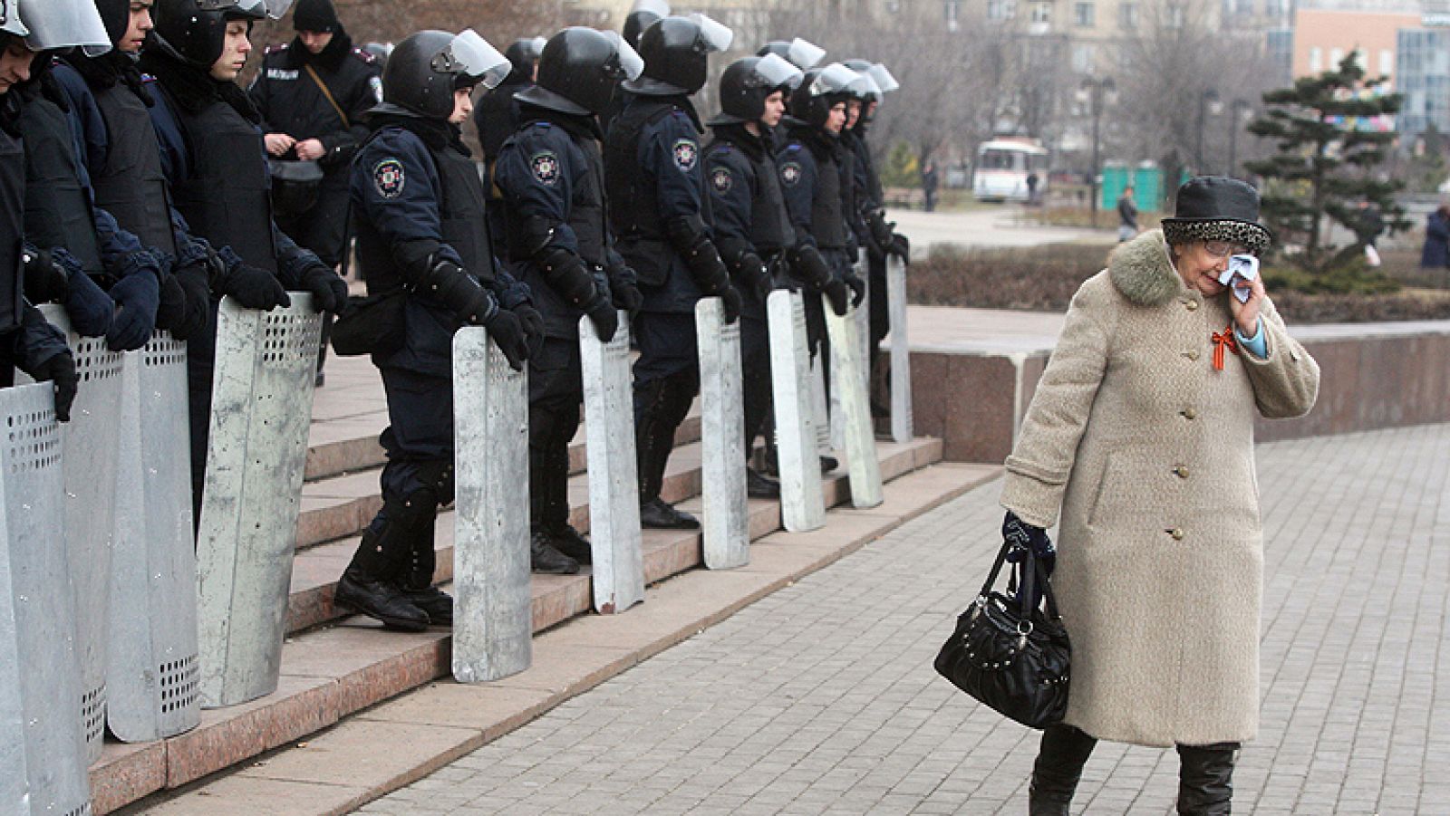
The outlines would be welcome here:
[[[454,333],[452,358],[452,673],[487,683],[534,659],[528,375],[478,326]]]

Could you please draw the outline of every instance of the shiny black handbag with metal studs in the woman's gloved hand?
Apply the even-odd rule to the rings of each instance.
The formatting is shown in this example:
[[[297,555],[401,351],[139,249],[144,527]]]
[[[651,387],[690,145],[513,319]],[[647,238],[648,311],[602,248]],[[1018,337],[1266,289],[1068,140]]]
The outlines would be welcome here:
[[[1043,561],[1027,551],[1014,597],[992,591],[1011,544],[1003,542],[977,600],[957,617],[937,654],[937,671],[992,710],[1030,728],[1047,728],[1067,713],[1072,645]],[[1041,587],[1047,610],[1040,609]]]

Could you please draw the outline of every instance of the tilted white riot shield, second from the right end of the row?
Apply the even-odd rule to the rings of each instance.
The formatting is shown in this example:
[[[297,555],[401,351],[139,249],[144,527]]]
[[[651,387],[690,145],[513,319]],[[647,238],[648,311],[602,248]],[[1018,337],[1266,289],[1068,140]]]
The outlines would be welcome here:
[[[851,506],[874,507],[882,503],[882,468],[876,461],[876,435],[871,407],[866,399],[864,368],[857,342],[854,312],[837,317],[826,309],[825,328],[831,335],[831,394],[841,400],[841,426],[845,435],[845,461],[851,478]]]

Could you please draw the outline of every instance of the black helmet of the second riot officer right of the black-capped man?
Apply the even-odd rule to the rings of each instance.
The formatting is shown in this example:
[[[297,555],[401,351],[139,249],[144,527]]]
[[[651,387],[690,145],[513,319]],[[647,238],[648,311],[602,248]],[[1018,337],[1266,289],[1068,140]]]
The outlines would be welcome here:
[[[577,116],[609,110],[619,83],[639,78],[644,59],[615,32],[583,26],[548,38],[538,83],[513,99]]]

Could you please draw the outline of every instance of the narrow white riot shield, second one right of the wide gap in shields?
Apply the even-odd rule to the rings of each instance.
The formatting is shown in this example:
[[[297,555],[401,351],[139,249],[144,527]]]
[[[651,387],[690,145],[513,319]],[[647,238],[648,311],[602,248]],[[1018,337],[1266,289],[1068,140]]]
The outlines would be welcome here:
[[[619,328],[608,344],[599,342],[593,320],[580,317],[579,352],[594,612],[615,615],[644,600],[628,315],[619,313]]]

